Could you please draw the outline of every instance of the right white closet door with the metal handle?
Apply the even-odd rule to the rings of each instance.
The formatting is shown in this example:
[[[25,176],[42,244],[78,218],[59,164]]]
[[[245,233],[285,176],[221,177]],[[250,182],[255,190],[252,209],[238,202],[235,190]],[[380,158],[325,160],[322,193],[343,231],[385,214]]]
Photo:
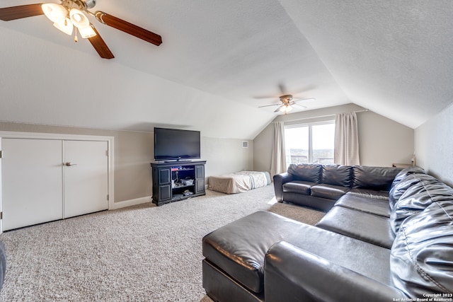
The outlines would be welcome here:
[[[108,142],[64,141],[64,218],[108,209]]]

